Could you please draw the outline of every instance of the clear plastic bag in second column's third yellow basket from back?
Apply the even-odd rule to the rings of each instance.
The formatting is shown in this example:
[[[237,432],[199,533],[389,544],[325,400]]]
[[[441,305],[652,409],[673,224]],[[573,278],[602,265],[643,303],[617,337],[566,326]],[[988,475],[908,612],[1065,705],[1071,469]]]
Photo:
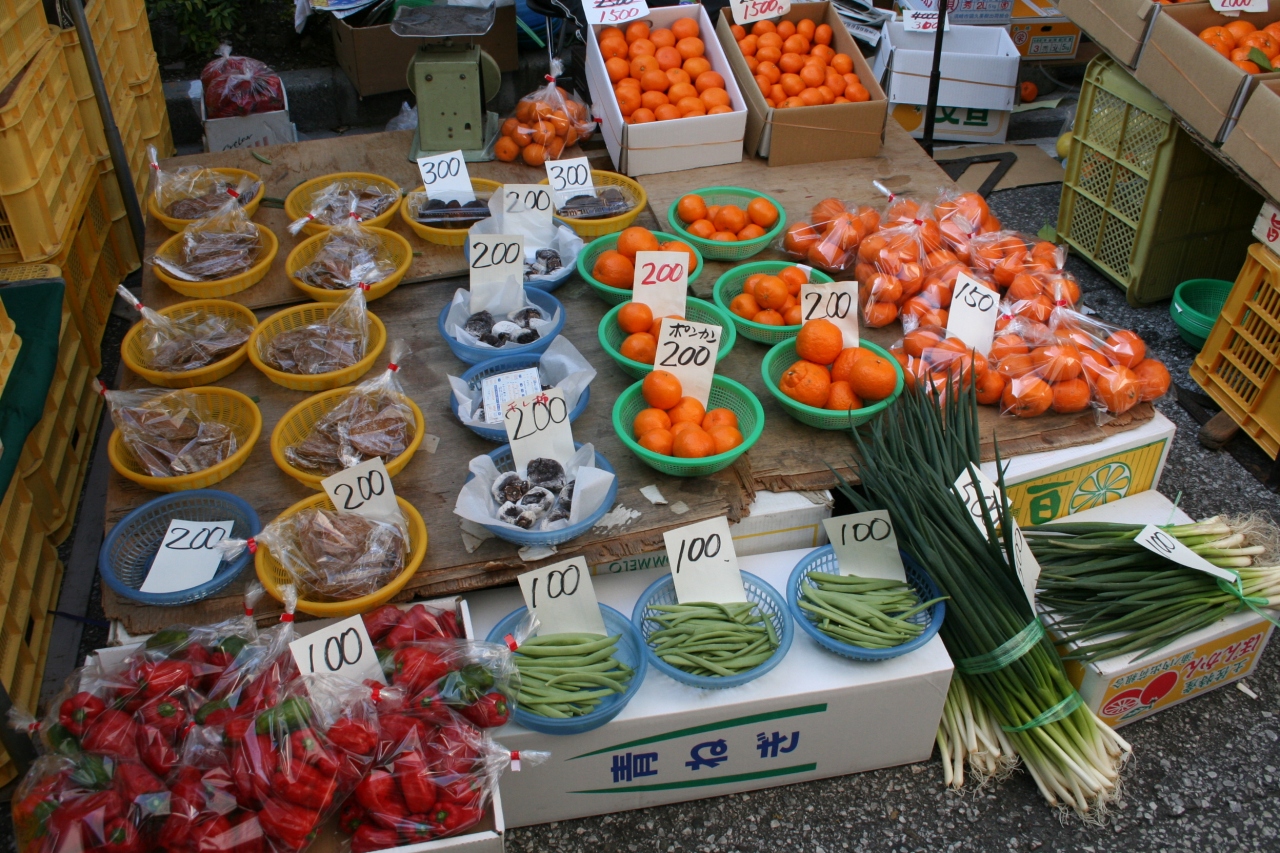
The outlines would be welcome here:
[[[361,284],[325,319],[259,341],[259,355],[276,370],[301,375],[333,373],[365,357],[369,313]]]

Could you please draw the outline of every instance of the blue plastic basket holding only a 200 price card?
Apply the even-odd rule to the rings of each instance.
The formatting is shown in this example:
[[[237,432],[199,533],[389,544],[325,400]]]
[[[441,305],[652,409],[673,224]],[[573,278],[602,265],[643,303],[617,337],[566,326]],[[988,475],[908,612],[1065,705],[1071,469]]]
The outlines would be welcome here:
[[[173,593],[140,592],[142,581],[151,571],[151,562],[160,551],[169,521],[230,521],[233,539],[248,539],[262,529],[257,514],[248,503],[216,489],[174,492],[147,501],[120,519],[106,534],[106,542],[97,556],[102,580],[118,596],[143,605],[189,605],[207,598],[230,585],[253,556],[246,548],[234,560],[223,561],[218,574],[209,583]]]

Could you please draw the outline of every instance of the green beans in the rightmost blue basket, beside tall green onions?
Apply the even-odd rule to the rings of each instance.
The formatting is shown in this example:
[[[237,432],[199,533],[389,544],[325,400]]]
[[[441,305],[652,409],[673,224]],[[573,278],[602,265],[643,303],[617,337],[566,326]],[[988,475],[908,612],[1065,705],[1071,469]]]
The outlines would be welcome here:
[[[809,621],[831,639],[861,648],[893,648],[915,639],[924,625],[908,620],[943,601],[920,603],[915,590],[899,580],[812,571],[809,581],[800,584],[800,607]]]

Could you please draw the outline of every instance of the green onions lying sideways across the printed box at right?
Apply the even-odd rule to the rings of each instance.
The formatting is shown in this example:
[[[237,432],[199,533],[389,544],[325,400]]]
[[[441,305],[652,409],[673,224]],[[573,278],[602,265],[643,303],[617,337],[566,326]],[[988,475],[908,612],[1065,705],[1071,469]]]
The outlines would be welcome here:
[[[1100,661],[1155,652],[1245,607],[1280,606],[1280,566],[1254,566],[1275,540],[1258,519],[1212,517],[1161,528],[1239,578],[1219,581],[1135,542],[1137,524],[1044,524],[1025,530],[1041,564],[1037,601],[1052,613],[1065,657]]]

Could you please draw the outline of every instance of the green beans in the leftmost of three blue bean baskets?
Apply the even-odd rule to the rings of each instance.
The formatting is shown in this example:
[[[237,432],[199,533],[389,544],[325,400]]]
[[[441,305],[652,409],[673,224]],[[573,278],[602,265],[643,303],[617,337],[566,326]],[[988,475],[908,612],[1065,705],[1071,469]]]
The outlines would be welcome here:
[[[581,717],[622,693],[632,669],[614,658],[621,634],[545,634],[516,649],[520,708],[556,720]]]

